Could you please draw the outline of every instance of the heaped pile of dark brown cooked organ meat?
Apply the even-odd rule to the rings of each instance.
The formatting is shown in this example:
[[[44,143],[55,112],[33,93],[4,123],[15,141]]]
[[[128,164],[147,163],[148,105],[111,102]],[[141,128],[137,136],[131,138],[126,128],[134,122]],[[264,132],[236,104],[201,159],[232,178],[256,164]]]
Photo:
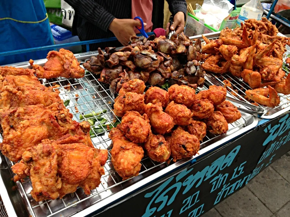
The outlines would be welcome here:
[[[205,72],[201,68],[201,41],[192,41],[180,33],[171,40],[165,36],[131,36],[130,45],[121,49],[105,48],[104,53],[92,56],[83,64],[84,68],[100,74],[100,81],[110,84],[110,91],[116,94],[122,84],[131,79],[140,79],[150,85],[169,84],[203,86]]]

